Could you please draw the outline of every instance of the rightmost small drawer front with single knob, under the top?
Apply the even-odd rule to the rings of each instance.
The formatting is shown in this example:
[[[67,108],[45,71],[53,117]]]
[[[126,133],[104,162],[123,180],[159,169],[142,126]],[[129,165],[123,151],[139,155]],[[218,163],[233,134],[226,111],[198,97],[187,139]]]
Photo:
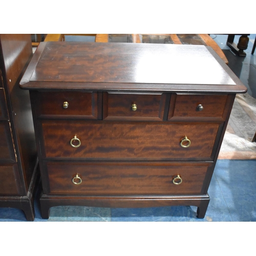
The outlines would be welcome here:
[[[172,94],[168,120],[222,118],[227,95]]]

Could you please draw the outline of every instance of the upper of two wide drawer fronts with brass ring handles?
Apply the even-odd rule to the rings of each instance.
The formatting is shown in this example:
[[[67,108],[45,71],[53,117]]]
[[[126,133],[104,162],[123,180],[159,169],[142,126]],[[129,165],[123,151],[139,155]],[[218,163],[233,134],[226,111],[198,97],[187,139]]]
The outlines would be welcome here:
[[[212,160],[220,126],[218,123],[39,121],[44,158],[83,160]],[[189,147],[180,144],[183,140],[183,145],[187,145],[185,136],[190,140]],[[79,146],[73,147],[70,142]]]

